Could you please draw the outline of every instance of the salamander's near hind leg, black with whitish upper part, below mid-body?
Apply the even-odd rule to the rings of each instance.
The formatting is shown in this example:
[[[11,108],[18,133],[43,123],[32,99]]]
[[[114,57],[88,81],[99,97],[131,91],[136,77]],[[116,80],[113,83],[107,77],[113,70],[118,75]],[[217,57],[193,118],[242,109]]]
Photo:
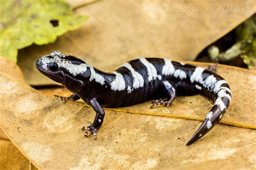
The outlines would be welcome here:
[[[176,89],[172,86],[172,83],[169,81],[163,81],[163,85],[165,88],[165,91],[167,92],[167,100],[159,99],[159,100],[153,100],[151,109],[156,105],[164,105],[166,107],[169,107],[171,102],[174,100],[174,98],[177,96]]]

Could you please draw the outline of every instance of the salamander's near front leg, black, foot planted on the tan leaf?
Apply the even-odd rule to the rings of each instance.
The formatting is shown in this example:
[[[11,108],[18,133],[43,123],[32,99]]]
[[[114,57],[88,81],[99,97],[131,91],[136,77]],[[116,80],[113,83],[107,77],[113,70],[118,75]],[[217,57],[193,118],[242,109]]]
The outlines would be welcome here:
[[[88,137],[90,134],[93,133],[94,138],[97,138],[97,132],[100,129],[100,126],[103,124],[104,116],[105,116],[105,111],[103,108],[100,106],[98,101],[94,98],[93,100],[89,101],[89,104],[93,108],[93,110],[96,112],[95,119],[93,123],[91,124],[89,122],[89,126],[82,126],[82,130],[88,130],[84,133],[85,137]]]

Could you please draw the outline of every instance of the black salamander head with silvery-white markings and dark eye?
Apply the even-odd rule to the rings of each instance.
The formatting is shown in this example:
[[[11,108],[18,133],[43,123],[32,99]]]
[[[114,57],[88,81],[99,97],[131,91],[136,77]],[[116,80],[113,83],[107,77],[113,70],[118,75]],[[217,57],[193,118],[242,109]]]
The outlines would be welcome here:
[[[36,61],[37,69],[53,81],[64,84],[64,79],[68,75],[71,79],[78,79],[79,75],[86,75],[87,67],[85,61],[75,56],[61,54],[53,51],[50,55],[41,56]]]

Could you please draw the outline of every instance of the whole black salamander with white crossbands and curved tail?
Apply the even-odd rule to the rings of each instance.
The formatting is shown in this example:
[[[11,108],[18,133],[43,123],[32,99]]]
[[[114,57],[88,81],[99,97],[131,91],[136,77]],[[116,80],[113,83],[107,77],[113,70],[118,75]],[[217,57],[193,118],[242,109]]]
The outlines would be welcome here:
[[[169,106],[176,95],[203,94],[214,105],[203,124],[187,142],[187,146],[203,137],[223,117],[231,102],[231,90],[223,77],[210,70],[182,62],[159,58],[141,58],[106,73],[89,63],[58,51],[36,61],[39,71],[50,79],[62,83],[73,95],[68,100],[82,98],[96,112],[92,124],[83,130],[87,137],[103,124],[105,107],[122,107],[148,100],[156,105]],[[166,100],[159,98],[167,97]],[[158,100],[156,100],[158,99]]]

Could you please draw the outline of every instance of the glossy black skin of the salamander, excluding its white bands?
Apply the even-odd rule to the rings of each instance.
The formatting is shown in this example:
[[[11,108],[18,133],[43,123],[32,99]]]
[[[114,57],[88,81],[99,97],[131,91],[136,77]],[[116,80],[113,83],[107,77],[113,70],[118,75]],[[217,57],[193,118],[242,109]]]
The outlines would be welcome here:
[[[53,56],[44,56],[44,58],[53,58]],[[73,65],[79,65],[80,63],[85,63],[84,61],[76,58],[75,56],[66,55],[63,60],[70,61]],[[157,74],[161,75],[164,60],[157,58],[147,58],[147,60],[153,63],[154,67],[157,70]],[[36,63],[38,70],[48,76],[50,79],[62,83],[66,88],[68,88],[73,95],[70,97],[59,97],[60,100],[70,100],[76,101],[79,98],[91,105],[93,110],[96,112],[95,119],[93,123],[89,123],[89,126],[83,126],[82,130],[87,130],[84,134],[85,137],[88,137],[89,134],[93,133],[94,138],[97,138],[97,132],[100,129],[100,126],[103,124],[105,112],[102,106],[104,107],[122,107],[125,105],[133,105],[136,103],[144,102],[147,100],[152,100],[151,108],[157,105],[164,105],[168,107],[174,98],[177,95],[194,95],[194,94],[204,94],[210,97],[213,101],[215,100],[215,94],[213,91],[208,91],[207,89],[198,90],[195,88],[194,84],[190,82],[190,76],[193,74],[195,66],[192,65],[181,65],[179,62],[172,61],[172,64],[175,69],[183,70],[187,78],[180,80],[173,76],[161,75],[161,79],[148,81],[147,77],[147,68],[139,60],[129,61],[130,65],[143,76],[144,86],[137,89],[133,89],[132,93],[127,93],[126,90],[115,91],[111,90],[110,83],[116,79],[113,73],[105,73],[97,68],[94,68],[97,75],[104,77],[104,84],[99,84],[95,80],[89,80],[91,76],[91,69],[87,67],[86,72],[73,76],[69,73],[66,68],[58,68],[56,63],[49,63],[47,68],[43,67],[43,62],[39,58]],[[208,67],[207,70],[204,70],[203,76],[207,77],[209,75],[214,75],[217,80],[224,80],[221,76],[213,73],[215,72],[217,65],[213,67]],[[120,67],[116,70],[118,73],[122,73],[125,80],[125,88],[132,87],[133,75],[131,71],[126,67]],[[170,84],[170,85],[166,85]],[[226,84],[225,86],[228,87]],[[165,98],[166,100],[159,99]],[[158,99],[158,100],[155,100]],[[229,104],[229,103],[225,103]],[[216,122],[217,124],[218,122]],[[213,128],[213,127],[212,127]],[[209,130],[205,130],[209,131]],[[206,133],[205,133],[206,134]],[[199,139],[199,137],[193,138],[189,141],[187,145],[190,145],[194,141]]]

